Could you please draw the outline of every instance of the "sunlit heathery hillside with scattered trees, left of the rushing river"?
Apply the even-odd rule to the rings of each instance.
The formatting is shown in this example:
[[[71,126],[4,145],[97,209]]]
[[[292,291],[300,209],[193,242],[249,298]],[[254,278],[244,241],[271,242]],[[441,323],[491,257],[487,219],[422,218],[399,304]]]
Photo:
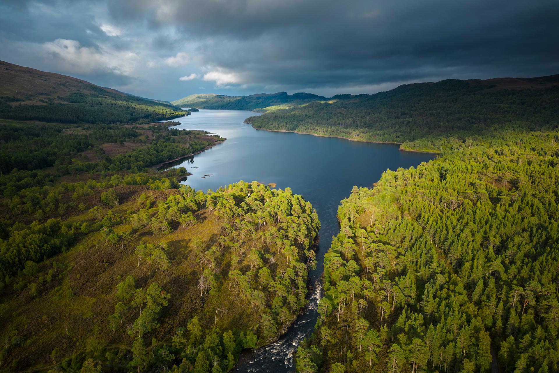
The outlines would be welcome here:
[[[2,263],[22,266],[2,268],[3,371],[79,370],[91,358],[106,371],[225,372],[306,304],[320,223],[301,196],[257,182],[205,194],[125,180],[74,184],[83,207],[63,217],[2,223]]]

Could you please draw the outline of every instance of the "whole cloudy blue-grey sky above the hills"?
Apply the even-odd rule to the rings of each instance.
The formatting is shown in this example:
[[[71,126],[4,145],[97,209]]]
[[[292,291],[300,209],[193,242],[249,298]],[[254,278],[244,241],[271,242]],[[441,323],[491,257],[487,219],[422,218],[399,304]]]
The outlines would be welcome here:
[[[557,0],[2,0],[0,60],[134,95],[559,73]]]

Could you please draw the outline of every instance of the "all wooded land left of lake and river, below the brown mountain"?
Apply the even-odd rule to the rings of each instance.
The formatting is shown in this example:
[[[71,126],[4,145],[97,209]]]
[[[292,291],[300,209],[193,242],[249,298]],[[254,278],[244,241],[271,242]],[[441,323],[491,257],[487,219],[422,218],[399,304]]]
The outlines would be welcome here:
[[[154,169],[219,136],[4,120],[0,139],[1,371],[228,371],[306,304],[309,202]]]

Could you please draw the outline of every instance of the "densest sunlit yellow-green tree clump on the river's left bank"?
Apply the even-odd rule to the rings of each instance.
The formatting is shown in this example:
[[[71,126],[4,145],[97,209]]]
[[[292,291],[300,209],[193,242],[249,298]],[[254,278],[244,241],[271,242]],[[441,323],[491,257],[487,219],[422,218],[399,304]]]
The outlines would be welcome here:
[[[196,197],[201,195],[184,188],[182,198],[168,200],[167,210],[174,205],[184,206],[179,210],[188,208],[192,204],[187,201]],[[215,286],[212,273],[218,271],[221,253],[229,247],[234,256],[227,286],[262,315],[258,337],[264,341],[273,338],[306,304],[307,273],[314,267],[311,246],[320,229],[316,212],[289,188],[269,190],[256,182],[219,188],[205,196],[205,205],[226,223],[220,247],[208,249],[196,239],[191,243],[200,262],[201,296]],[[246,241],[250,232],[257,232],[256,247],[247,250],[236,244]]]

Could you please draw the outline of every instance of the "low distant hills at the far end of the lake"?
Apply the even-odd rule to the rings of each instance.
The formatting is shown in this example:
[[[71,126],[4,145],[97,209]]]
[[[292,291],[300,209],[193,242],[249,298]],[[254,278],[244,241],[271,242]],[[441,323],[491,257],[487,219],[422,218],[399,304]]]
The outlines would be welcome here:
[[[266,111],[263,109],[273,106],[292,106],[302,105],[312,101],[324,101],[328,98],[312,93],[257,93],[250,96],[225,96],[209,94],[196,94],[183,97],[180,100],[172,101],[173,105],[180,107],[197,107],[203,109],[222,109],[222,110],[252,110]]]

